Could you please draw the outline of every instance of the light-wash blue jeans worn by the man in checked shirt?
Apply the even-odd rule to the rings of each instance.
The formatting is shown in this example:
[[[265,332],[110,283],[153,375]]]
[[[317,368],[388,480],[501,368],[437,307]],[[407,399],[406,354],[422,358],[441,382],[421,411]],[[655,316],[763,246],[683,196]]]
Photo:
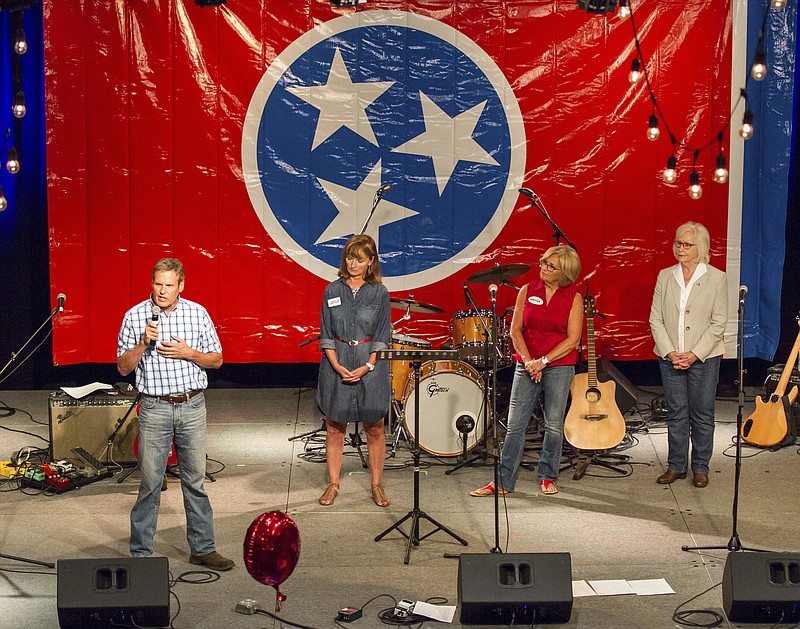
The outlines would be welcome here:
[[[182,404],[144,396],[139,411],[139,496],[131,510],[132,557],[153,554],[153,537],[161,504],[161,483],[170,444],[180,466],[186,540],[193,555],[213,552],[211,502],[203,487],[206,474],[206,402],[200,393]]]

